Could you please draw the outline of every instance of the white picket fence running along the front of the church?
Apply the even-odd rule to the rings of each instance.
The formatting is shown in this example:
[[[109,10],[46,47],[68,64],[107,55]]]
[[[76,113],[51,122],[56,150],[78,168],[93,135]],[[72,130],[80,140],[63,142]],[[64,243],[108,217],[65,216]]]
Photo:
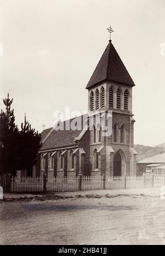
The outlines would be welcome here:
[[[160,179],[159,179],[160,182]],[[158,180],[157,180],[158,183]],[[10,191],[23,192],[52,192],[52,191],[77,191],[77,190],[102,190],[102,189],[129,189],[144,187],[144,177],[139,176],[79,176],[73,177],[12,177]]]

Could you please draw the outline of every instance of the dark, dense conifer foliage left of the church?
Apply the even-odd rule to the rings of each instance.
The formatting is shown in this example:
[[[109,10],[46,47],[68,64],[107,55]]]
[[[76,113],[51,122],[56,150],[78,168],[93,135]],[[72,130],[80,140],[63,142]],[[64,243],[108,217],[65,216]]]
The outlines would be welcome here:
[[[3,99],[5,112],[0,113],[0,173],[12,173],[27,169],[35,163],[41,147],[41,135],[31,129],[29,122],[21,124],[21,131],[15,125],[13,99]]]

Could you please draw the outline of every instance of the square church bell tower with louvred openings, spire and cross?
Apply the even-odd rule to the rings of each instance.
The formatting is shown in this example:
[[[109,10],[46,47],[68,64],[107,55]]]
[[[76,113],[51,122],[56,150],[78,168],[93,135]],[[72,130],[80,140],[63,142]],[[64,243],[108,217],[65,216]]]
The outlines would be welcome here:
[[[111,26],[108,31],[109,43],[86,89],[89,92],[89,111],[112,110],[113,132],[111,136],[102,137],[100,143],[96,139],[92,141],[91,131],[91,174],[136,175],[135,120],[132,113],[132,88],[135,84],[112,44]],[[98,168],[92,159],[94,151],[98,154]]]

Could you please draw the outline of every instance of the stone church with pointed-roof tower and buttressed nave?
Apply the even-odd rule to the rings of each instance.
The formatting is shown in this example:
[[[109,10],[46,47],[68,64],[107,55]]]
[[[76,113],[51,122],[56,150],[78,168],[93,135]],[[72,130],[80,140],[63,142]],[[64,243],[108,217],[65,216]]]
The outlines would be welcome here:
[[[64,129],[46,129],[41,133],[33,175],[54,177],[71,175],[136,175],[132,88],[135,86],[112,41],[106,47],[89,83],[89,111],[112,110],[112,134],[103,136],[101,124],[89,129],[83,125],[67,129],[73,119],[59,121]],[[71,99],[70,99],[71,100]],[[84,116],[76,118],[83,121]],[[82,122],[83,123],[83,122]]]

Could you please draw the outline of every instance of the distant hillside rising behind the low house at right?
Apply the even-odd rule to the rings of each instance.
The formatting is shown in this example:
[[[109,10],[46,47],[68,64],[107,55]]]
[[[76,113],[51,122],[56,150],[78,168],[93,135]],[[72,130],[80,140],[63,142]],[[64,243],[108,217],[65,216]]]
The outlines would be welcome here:
[[[144,146],[144,145],[134,145],[134,148],[136,152],[138,153],[137,156],[137,161],[148,158],[148,157],[153,157],[156,154],[160,154],[162,152],[165,152],[165,143],[162,143],[160,145],[157,145],[155,147],[150,147],[150,146]]]

